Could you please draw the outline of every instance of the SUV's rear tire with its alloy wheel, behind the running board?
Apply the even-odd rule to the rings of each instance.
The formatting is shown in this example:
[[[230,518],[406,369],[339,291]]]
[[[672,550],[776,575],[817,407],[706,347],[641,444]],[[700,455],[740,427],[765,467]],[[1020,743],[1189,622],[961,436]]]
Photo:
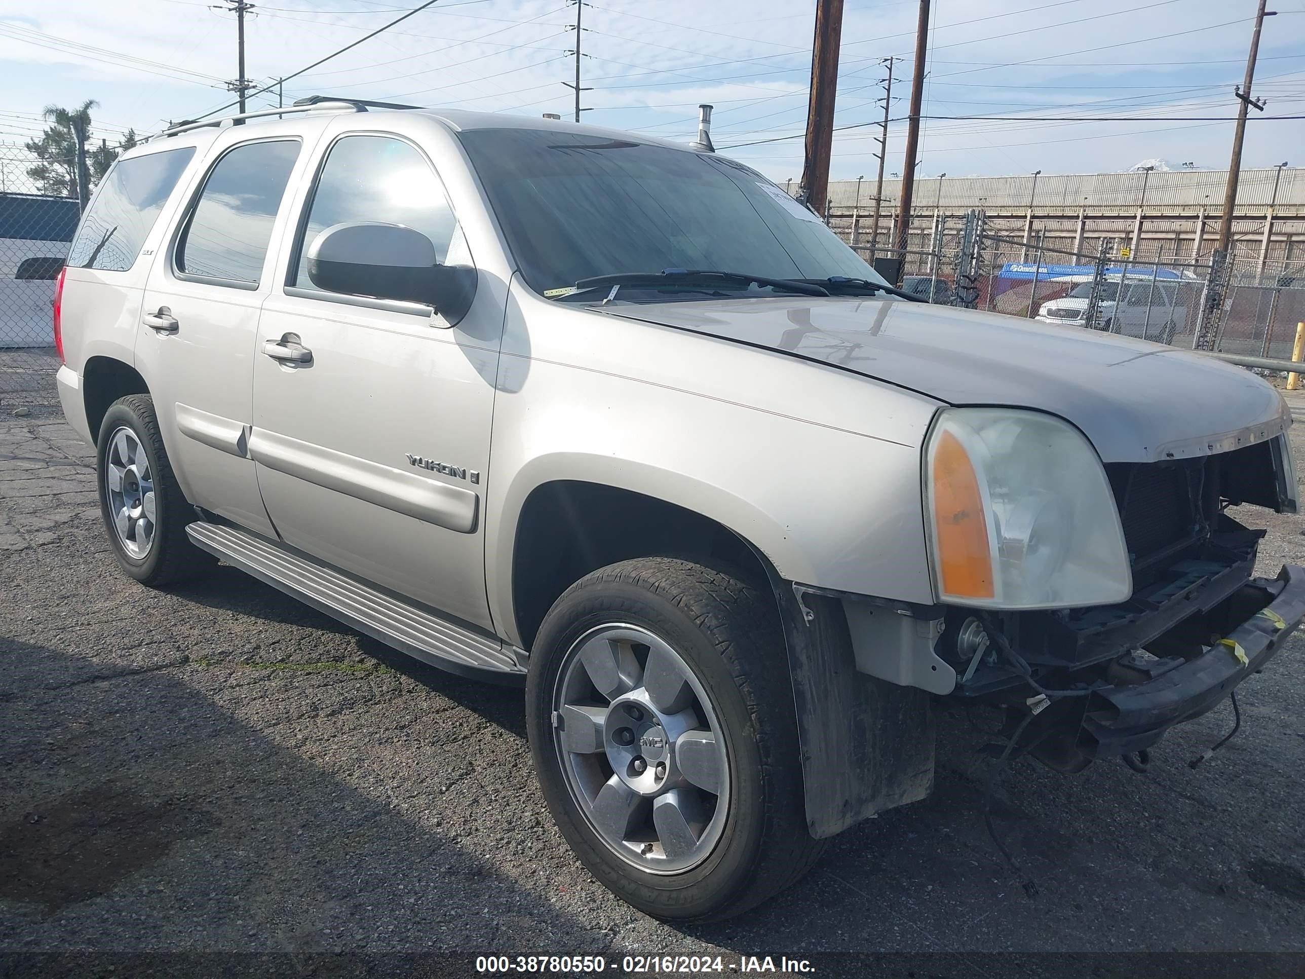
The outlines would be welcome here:
[[[217,564],[185,534],[194,510],[172,474],[149,394],[119,398],[104,412],[95,475],[104,530],[127,574],[159,587],[196,578]]]

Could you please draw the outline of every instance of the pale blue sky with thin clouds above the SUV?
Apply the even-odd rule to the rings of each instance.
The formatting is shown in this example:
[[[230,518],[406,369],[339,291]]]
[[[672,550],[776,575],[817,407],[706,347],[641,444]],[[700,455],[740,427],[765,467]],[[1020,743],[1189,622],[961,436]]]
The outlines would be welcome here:
[[[269,84],[356,40],[416,0],[269,0],[248,16],[248,73]],[[1265,116],[1305,115],[1305,0],[1276,0],[1255,94]],[[783,181],[801,172],[814,0],[595,0],[581,37],[585,121],[692,138],[715,104],[716,146]],[[837,125],[881,117],[880,59],[902,56],[894,117],[907,112],[916,0],[847,0]],[[920,174],[1128,170],[1163,158],[1224,167],[1228,116],[1254,0],[934,0]],[[569,115],[576,7],[566,0],[441,0],[286,84],[286,101],[335,93],[521,115]],[[194,116],[230,101],[235,17],[202,0],[0,0],[0,141],[39,132],[47,103],[100,103],[97,136]],[[254,99],[275,104],[274,93]],[[1001,120],[940,116],[1004,116]],[[1019,116],[1101,121],[1021,121]],[[1258,115],[1258,114],[1253,114]],[[835,133],[831,176],[872,175],[877,127]],[[797,138],[792,138],[797,137]],[[1305,121],[1249,127],[1244,166],[1305,163]],[[762,142],[765,141],[765,142]],[[903,166],[890,128],[887,171]],[[752,144],[752,145],[739,145]],[[736,146],[737,145],[737,146]],[[1295,157],[1301,157],[1296,159]]]

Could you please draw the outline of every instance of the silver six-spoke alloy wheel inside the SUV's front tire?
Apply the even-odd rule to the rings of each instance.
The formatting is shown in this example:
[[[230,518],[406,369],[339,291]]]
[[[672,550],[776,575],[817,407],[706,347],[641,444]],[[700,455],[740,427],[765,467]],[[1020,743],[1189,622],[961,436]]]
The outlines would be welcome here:
[[[729,803],[723,728],[702,684],[647,629],[602,625],[562,658],[553,741],[566,785],[599,838],[651,873],[702,863]]]

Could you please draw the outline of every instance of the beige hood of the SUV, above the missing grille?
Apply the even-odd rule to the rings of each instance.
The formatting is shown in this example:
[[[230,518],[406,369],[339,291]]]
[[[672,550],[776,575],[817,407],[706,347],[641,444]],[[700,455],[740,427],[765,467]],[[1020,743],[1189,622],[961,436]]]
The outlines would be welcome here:
[[[603,312],[831,364],[949,405],[1048,411],[1105,462],[1227,452],[1291,424],[1275,388],[1202,354],[1077,326],[883,299],[613,304]]]

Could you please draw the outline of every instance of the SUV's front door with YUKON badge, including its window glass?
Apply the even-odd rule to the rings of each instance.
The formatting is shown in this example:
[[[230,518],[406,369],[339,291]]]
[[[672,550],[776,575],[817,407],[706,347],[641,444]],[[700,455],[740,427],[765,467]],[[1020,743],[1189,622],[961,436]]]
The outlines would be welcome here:
[[[264,304],[251,456],[281,536],[371,582],[491,629],[483,508],[501,303],[479,290],[455,326],[428,307],[325,292],[305,252],[324,228],[420,231],[472,265],[425,154],[343,132],[326,150]]]

